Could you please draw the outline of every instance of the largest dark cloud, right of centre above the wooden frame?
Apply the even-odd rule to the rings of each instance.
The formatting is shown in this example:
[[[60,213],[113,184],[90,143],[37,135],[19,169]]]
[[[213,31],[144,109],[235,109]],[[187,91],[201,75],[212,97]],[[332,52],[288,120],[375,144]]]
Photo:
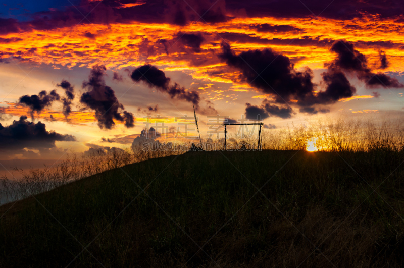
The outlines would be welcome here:
[[[285,103],[297,99],[295,105],[306,108],[302,111],[314,113],[317,110],[313,105],[331,104],[341,98],[351,97],[356,92],[343,72],[335,66],[329,66],[328,72],[322,74],[325,90],[315,93],[314,91],[318,90],[317,84],[312,82],[313,72],[309,68],[300,72],[295,70],[288,57],[271,49],[248,50],[235,55],[227,43],[222,43],[219,58],[229,66],[240,70],[242,78],[250,85],[265,93],[273,94],[276,102]],[[268,116],[289,118],[293,114],[290,107],[279,108],[269,103],[263,103],[258,108],[265,110]],[[255,113],[256,110],[257,106],[247,105],[246,114],[251,114],[250,111]]]

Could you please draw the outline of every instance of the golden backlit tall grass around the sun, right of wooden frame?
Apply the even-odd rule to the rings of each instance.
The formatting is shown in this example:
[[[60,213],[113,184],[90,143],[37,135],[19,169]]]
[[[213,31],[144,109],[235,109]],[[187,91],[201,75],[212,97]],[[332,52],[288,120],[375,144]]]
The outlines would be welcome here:
[[[334,118],[262,132],[267,150],[305,150],[311,140],[319,151],[398,152],[404,149],[404,121]]]

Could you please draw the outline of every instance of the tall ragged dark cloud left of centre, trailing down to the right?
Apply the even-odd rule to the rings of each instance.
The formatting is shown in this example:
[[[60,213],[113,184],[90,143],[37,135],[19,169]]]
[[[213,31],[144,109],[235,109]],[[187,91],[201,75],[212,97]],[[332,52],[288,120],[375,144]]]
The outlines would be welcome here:
[[[114,90],[105,84],[106,70],[104,65],[92,68],[88,81],[83,82],[83,88],[88,92],[81,95],[80,102],[95,111],[100,128],[112,129],[115,126],[114,119],[131,128],[134,126],[133,114],[124,111],[124,106],[119,103]]]

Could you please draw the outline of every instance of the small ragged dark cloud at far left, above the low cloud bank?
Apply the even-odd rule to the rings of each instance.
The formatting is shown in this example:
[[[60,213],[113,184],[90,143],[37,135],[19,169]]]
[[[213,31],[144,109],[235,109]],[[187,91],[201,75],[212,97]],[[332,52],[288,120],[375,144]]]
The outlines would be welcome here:
[[[34,112],[40,114],[40,112],[44,108],[51,106],[52,102],[54,102],[55,100],[60,100],[60,96],[54,89],[49,94],[47,94],[47,92],[43,90],[39,92],[38,95],[24,95],[20,97],[18,102],[29,107],[31,117],[33,119]]]

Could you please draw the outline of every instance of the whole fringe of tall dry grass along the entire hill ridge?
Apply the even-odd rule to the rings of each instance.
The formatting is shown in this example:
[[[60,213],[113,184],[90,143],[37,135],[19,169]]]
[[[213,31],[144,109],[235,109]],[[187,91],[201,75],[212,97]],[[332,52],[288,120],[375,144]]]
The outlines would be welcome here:
[[[230,130],[227,135],[227,149],[241,149],[243,144],[247,145],[244,148],[256,149],[256,132],[237,135]],[[319,151],[401,152],[404,149],[404,121],[333,118],[292,124],[284,129],[262,129],[261,142],[264,150],[305,150],[308,141],[313,141]],[[15,167],[12,172],[19,175],[17,178],[7,172],[0,175],[0,204],[129,164],[182,154],[191,143],[192,140],[173,143],[171,146],[162,144],[162,147],[149,150],[137,146],[103,153],[70,153],[64,160],[50,167],[29,171]],[[206,150],[223,149],[224,138],[211,139],[204,136],[202,146]]]

